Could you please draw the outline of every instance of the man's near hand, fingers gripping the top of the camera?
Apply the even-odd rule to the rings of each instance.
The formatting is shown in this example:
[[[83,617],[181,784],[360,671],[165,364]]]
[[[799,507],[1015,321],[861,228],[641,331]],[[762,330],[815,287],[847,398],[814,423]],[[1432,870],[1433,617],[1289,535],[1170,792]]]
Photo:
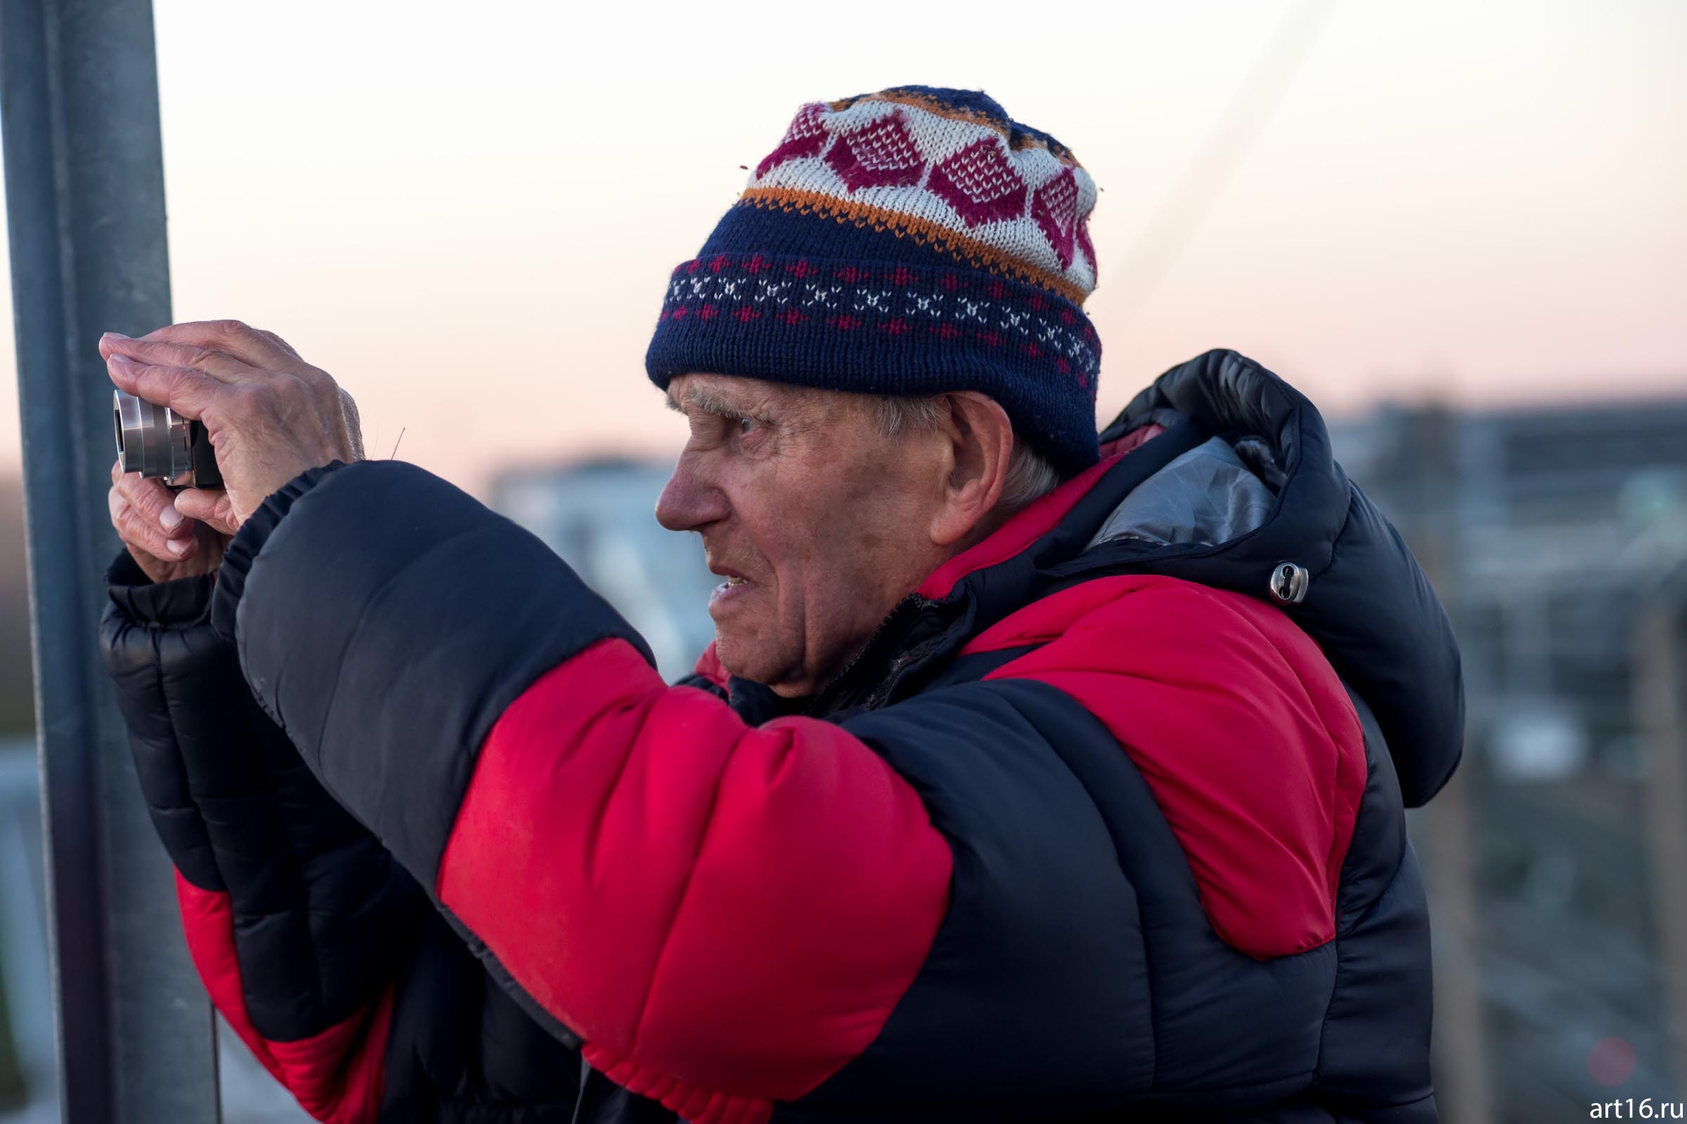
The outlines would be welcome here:
[[[351,394],[273,332],[240,320],[108,332],[100,356],[118,389],[204,423],[224,490],[187,489],[175,509],[218,531],[236,531],[305,468],[363,460]]]

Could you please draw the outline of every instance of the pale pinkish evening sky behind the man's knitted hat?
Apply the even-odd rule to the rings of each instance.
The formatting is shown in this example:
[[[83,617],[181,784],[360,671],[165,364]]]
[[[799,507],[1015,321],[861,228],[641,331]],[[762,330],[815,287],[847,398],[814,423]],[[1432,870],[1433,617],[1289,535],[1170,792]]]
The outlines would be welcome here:
[[[403,428],[482,494],[675,452],[643,372],[668,271],[798,104],[908,83],[985,89],[1103,189],[1105,416],[1210,347],[1333,415],[1687,394],[1679,0],[154,5],[175,318],[280,332],[371,455]]]

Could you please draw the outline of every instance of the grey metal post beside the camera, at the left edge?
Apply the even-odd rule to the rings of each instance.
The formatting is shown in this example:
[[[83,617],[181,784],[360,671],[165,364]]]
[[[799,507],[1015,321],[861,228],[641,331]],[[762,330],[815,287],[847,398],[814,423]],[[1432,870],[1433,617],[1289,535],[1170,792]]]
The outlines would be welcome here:
[[[214,1030],[94,649],[118,549],[101,330],[169,324],[150,0],[0,0],[59,1104],[216,1121]]]

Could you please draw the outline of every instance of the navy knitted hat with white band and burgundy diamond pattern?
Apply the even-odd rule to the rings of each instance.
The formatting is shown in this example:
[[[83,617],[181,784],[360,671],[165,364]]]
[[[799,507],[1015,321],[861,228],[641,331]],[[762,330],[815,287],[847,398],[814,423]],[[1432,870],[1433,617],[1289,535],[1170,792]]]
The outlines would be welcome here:
[[[806,104],[673,271],[644,367],[980,391],[1063,474],[1097,460],[1095,182],[967,89]]]

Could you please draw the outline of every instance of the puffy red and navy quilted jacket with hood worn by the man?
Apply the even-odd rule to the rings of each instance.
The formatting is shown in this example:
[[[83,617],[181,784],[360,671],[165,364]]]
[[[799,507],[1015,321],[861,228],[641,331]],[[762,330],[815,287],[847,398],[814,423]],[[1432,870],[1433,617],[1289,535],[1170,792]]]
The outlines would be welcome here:
[[[331,1121],[1434,1119],[1446,617],[1233,352],[818,696],[668,686],[535,538],[302,474],[103,625],[218,1008]],[[250,688],[250,691],[246,689]]]

